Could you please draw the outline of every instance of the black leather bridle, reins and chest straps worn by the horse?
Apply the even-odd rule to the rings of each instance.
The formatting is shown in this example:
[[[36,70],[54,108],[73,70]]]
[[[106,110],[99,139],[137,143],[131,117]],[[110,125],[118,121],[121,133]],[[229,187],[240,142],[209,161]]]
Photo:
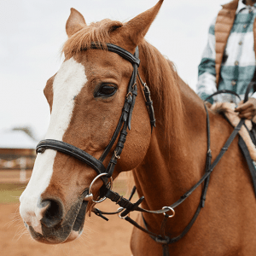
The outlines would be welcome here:
[[[104,49],[102,44],[91,44],[90,49]],[[111,51],[113,53],[116,53],[120,55],[122,58],[124,58],[126,61],[130,61],[133,66],[133,72],[131,74],[130,83],[128,85],[127,89],[127,95],[125,97],[125,103],[124,107],[122,109],[122,113],[119,118],[119,123],[116,127],[116,130],[113,132],[113,137],[111,138],[110,142],[108,143],[107,148],[105,148],[104,152],[102,153],[102,156],[97,160],[92,155],[86,153],[84,150],[77,148],[71,144],[64,143],[61,141],[53,140],[53,139],[45,139],[38,143],[38,146],[36,148],[37,153],[43,154],[44,151],[48,148],[57,150],[64,154],[69,154],[73,156],[74,158],[83,161],[90,167],[92,167],[96,172],[97,176],[95,179],[90,183],[90,189],[88,190],[88,194],[85,196],[84,201],[93,201],[94,203],[101,202],[105,200],[106,198],[110,199],[111,201],[115,202],[119,205],[119,209],[117,212],[102,212],[101,210],[97,208],[93,208],[92,212],[94,212],[97,216],[100,216],[106,220],[104,215],[106,214],[119,214],[120,218],[124,218],[126,221],[130,222],[134,226],[136,226],[139,230],[142,230],[143,232],[147,233],[154,241],[160,243],[163,246],[163,255],[169,255],[168,245],[172,244],[176,241],[179,241],[183,236],[185,236],[189,229],[192,227],[192,225],[195,223],[195,219],[198,217],[201,208],[205,206],[205,201],[207,197],[207,189],[210,181],[210,175],[213,171],[213,168],[218,164],[218,161],[222,158],[224,153],[227,151],[227,149],[230,147],[230,144],[233,142],[234,138],[236,137],[238,131],[241,129],[241,126],[244,125],[244,119],[241,119],[240,123],[236,126],[234,131],[231,133],[229,139],[224,144],[224,147],[221,149],[220,153],[218,154],[217,158],[212,163],[212,151],[210,148],[210,120],[209,120],[209,114],[206,108],[207,112],[207,162],[206,162],[206,172],[201,177],[201,179],[196,183],[187,193],[182,195],[180,199],[176,202],[174,202],[169,207],[162,207],[162,209],[157,211],[149,211],[146,209],[143,209],[142,207],[139,207],[141,202],[144,200],[144,196],[142,196],[137,202],[132,203],[131,197],[134,195],[136,188],[132,189],[131,196],[129,199],[125,199],[123,196],[119,195],[118,193],[114,192],[111,189],[112,185],[112,174],[114,167],[117,164],[117,160],[120,158],[120,154],[122,153],[122,149],[124,148],[125,139],[127,136],[127,129],[131,130],[131,115],[132,111],[135,105],[135,100],[137,96],[137,78],[140,81],[140,83],[143,85],[143,92],[144,92],[144,98],[145,102],[148,108],[149,118],[150,118],[150,125],[151,129],[155,127],[155,119],[154,119],[154,108],[153,108],[153,102],[150,98],[150,91],[148,89],[148,85],[146,83],[143,83],[143,80],[139,76],[138,73],[138,67],[140,64],[139,60],[139,53],[138,53],[138,47],[136,49],[136,52],[134,55],[132,55],[130,52],[128,52],[125,49],[120,48],[117,45],[114,44],[107,44],[108,51]],[[84,49],[86,50],[86,49]],[[248,93],[251,90],[253,84],[249,84],[247,88],[247,93],[245,97],[245,101],[247,101]],[[119,138],[118,138],[119,137]],[[106,159],[108,153],[110,152],[111,148],[113,147],[113,144],[118,139],[118,143],[114,149],[113,155],[111,157],[111,160],[108,162],[107,168],[103,166],[102,162]],[[100,196],[98,197],[98,201],[93,200],[93,194],[91,192],[91,187],[93,183],[95,183],[96,179],[102,178],[103,186],[100,189]],[[108,183],[108,179],[111,179],[110,183]],[[199,203],[199,206],[197,207],[197,210],[195,212],[194,217],[190,220],[187,227],[183,230],[183,232],[177,236],[177,237],[169,237],[166,236],[166,222],[168,218],[172,218],[175,215],[174,209],[178,207],[183,201],[185,201],[189,195],[191,195],[195,189],[197,189],[202,183],[203,189],[201,192],[201,201]],[[148,213],[154,213],[154,214],[164,214],[165,218],[162,221],[161,228],[160,228],[160,235],[154,234],[153,232],[148,230],[147,224],[143,218],[144,227],[140,226],[135,222],[133,219],[131,219],[128,215],[132,211],[137,212],[148,212]],[[172,212],[171,215],[168,215],[166,212]]]

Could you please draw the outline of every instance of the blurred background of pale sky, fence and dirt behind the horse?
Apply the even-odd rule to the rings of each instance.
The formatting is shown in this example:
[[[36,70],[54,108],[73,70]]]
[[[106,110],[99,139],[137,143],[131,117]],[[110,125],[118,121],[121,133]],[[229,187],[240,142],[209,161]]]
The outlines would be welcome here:
[[[0,1],[0,251],[1,255],[70,255],[73,249],[46,249],[34,243],[19,218],[18,198],[31,175],[34,148],[49,125],[44,85],[61,66],[61,46],[70,8],[78,9],[89,24],[109,18],[127,21],[151,8],[157,0],[1,0]],[[177,67],[181,78],[195,90],[197,67],[207,44],[208,27],[228,1],[166,0],[146,39]],[[125,178],[116,186],[123,189]],[[96,220],[92,230],[104,231]],[[120,219],[113,222],[119,224]],[[107,223],[108,224],[108,223]],[[90,224],[89,224],[90,225]],[[122,228],[126,227],[121,224]],[[119,229],[119,228],[117,228]],[[106,226],[109,230],[109,226]],[[25,234],[23,236],[23,233]],[[90,232],[89,232],[90,233]],[[93,232],[92,232],[93,233]],[[124,241],[127,255],[131,227]],[[91,236],[100,236],[93,233]],[[107,236],[109,236],[109,233]],[[2,238],[6,238],[5,240]],[[82,237],[83,238],[83,237]],[[105,237],[106,238],[106,237]],[[77,255],[126,255],[113,245],[102,254],[93,251],[93,238],[76,244]],[[85,240],[90,240],[85,246]],[[128,239],[128,240],[127,240]],[[106,241],[102,241],[104,244]],[[27,247],[24,244],[27,243]],[[102,246],[103,247],[103,246]],[[112,247],[108,244],[108,247]],[[48,247],[49,248],[49,247]],[[67,249],[69,248],[69,249]],[[79,248],[79,249],[78,249]],[[47,251],[48,250],[48,251]],[[81,250],[81,252],[79,251]],[[87,253],[79,254],[87,250]],[[115,253],[113,253],[115,252]]]

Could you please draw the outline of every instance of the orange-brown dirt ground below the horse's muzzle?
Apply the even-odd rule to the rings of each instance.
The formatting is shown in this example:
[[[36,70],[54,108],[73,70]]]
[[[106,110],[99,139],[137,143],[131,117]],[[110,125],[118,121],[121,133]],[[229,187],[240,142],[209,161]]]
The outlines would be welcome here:
[[[111,201],[104,201],[98,207],[103,211],[117,208]],[[136,215],[133,213],[131,217]],[[45,245],[32,241],[28,235],[20,218],[19,204],[0,204],[1,256],[131,256],[131,230],[132,225],[118,216],[105,221],[92,214],[85,219],[83,235],[77,241]]]

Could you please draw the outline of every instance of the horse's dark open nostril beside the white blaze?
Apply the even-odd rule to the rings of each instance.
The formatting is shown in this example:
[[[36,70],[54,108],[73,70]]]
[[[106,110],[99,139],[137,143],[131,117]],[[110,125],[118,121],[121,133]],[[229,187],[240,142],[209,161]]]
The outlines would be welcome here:
[[[46,208],[41,223],[47,228],[53,228],[60,224],[63,216],[63,207],[60,201],[46,200],[42,202],[42,206]]]

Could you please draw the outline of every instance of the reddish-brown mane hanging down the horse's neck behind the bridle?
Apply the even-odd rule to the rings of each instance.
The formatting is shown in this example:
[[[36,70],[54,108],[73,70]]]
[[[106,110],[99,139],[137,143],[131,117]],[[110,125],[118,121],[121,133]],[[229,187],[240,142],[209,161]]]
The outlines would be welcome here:
[[[154,101],[157,100],[160,106],[156,119],[164,126],[167,144],[173,146],[175,138],[183,137],[183,103],[177,71],[172,61],[147,41],[144,40],[139,49],[145,79]]]

